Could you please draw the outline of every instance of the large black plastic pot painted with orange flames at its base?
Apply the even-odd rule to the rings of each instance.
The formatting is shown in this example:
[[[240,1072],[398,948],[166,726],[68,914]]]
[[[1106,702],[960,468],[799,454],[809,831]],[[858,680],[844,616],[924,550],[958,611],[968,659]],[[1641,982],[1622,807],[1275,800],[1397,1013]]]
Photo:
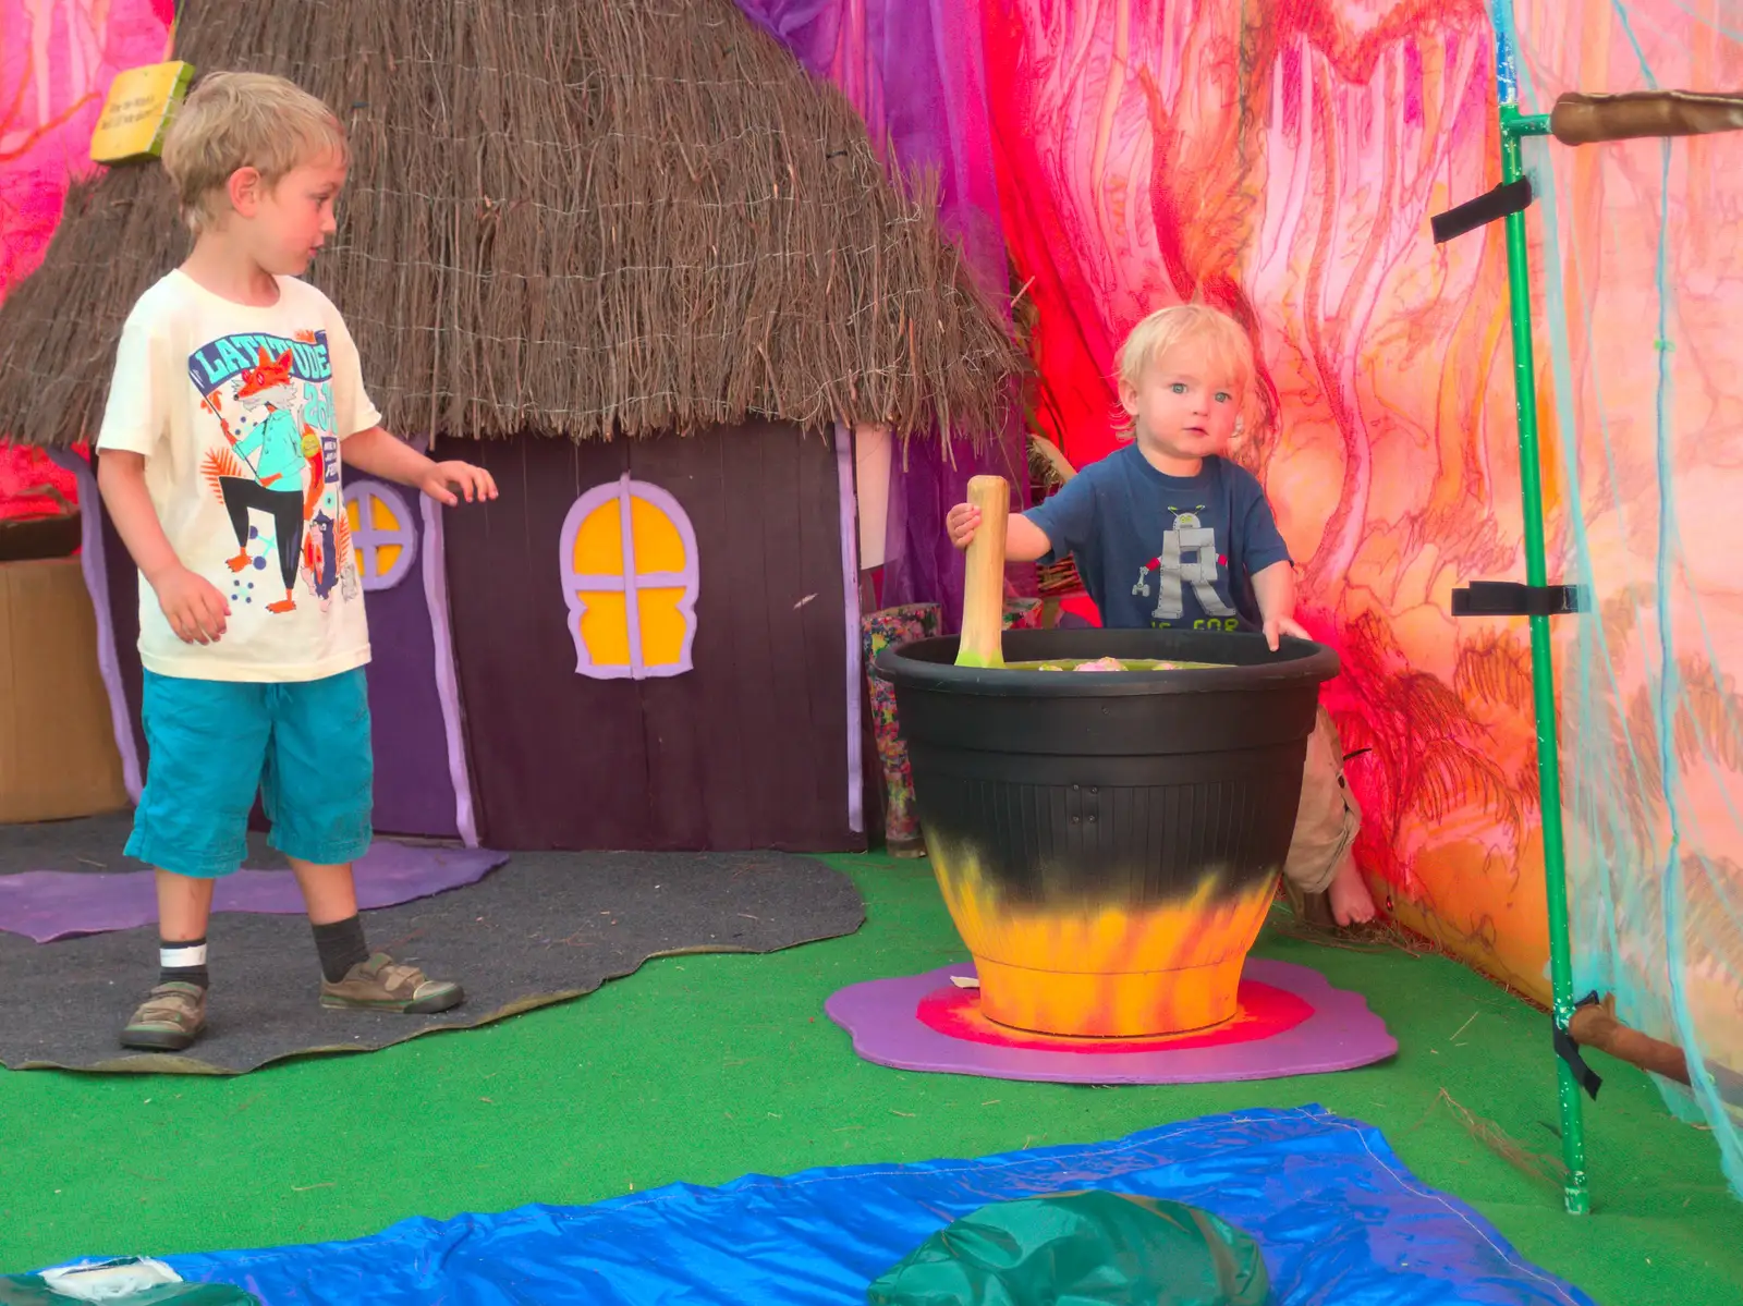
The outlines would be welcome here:
[[[974,956],[983,1013],[1049,1034],[1173,1034],[1236,1013],[1337,654],[1258,635],[1007,631],[1018,661],[1170,659],[1178,671],[955,666],[957,640],[885,649],[920,825]]]

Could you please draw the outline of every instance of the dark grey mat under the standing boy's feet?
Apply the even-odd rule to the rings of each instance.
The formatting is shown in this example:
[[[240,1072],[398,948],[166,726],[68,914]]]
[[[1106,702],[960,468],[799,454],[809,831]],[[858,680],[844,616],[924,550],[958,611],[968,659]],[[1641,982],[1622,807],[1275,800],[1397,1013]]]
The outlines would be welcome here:
[[[591,992],[654,956],[776,952],[851,935],[861,924],[865,901],[852,881],[814,858],[516,853],[479,884],[364,912],[371,947],[458,980],[464,1006],[434,1017],[322,1010],[305,919],[220,915],[209,935],[209,1029],[181,1055],[134,1053],[117,1041],[157,982],[155,926],[56,943],[0,933],[7,994],[0,1062],[237,1074],[298,1053],[371,1051],[437,1029],[481,1025]]]

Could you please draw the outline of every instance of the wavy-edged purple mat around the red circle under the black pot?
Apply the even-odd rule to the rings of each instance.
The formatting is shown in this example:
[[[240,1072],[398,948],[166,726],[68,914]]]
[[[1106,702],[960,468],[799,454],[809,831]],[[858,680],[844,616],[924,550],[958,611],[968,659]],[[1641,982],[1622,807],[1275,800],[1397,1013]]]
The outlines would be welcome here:
[[[943,966],[898,980],[868,980],[830,996],[824,1011],[852,1034],[865,1060],[898,1071],[978,1074],[988,1079],[1044,1079],[1067,1085],[1203,1085],[1281,1079],[1372,1065],[1398,1051],[1386,1024],[1361,994],[1333,989],[1318,971],[1286,961],[1248,957],[1241,982],[1281,989],[1312,1013],[1269,1037],[1220,1046],[1159,1050],[1044,1051],[952,1037],[922,1024],[920,1003],[950,989],[974,966]],[[1116,1044],[1117,1046],[1117,1044]]]

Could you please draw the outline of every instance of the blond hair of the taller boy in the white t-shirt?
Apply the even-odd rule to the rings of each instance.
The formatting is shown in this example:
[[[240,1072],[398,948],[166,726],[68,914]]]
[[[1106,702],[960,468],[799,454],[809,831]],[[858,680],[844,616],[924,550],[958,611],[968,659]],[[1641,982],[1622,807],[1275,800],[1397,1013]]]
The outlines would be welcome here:
[[[164,171],[195,235],[223,216],[221,192],[237,169],[253,167],[275,187],[286,173],[326,157],[350,164],[338,117],[295,82],[268,73],[202,77],[164,138]]]

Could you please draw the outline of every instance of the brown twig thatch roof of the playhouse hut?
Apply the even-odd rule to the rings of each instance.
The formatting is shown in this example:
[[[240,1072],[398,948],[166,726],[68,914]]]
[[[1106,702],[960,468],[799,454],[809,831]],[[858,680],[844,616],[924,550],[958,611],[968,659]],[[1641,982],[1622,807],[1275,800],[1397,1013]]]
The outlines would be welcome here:
[[[354,164],[310,279],[394,431],[577,439],[776,417],[973,432],[1021,356],[922,181],[732,0],[187,0],[176,58],[295,78]],[[0,432],[92,436],[187,253],[155,164],[71,194],[0,307]]]

